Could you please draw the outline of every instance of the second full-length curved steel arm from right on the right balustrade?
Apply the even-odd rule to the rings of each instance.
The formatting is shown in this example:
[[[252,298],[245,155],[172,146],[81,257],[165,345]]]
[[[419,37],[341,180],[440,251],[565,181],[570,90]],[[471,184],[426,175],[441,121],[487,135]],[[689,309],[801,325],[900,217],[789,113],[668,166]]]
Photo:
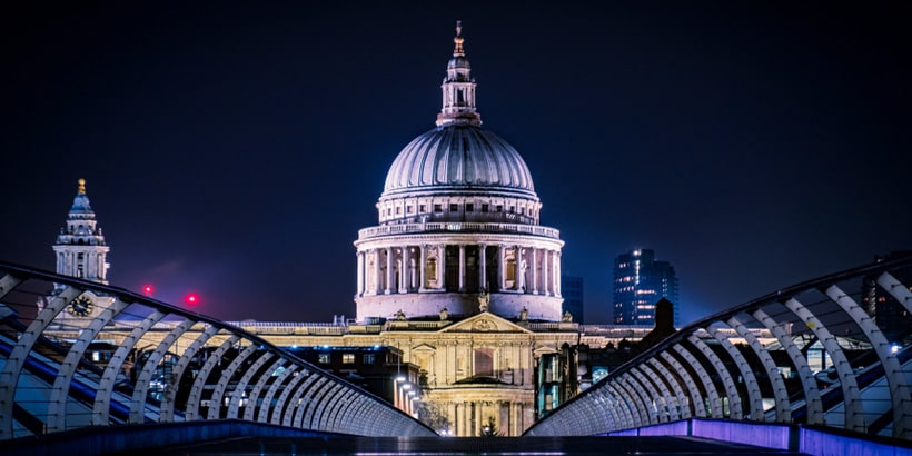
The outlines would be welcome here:
[[[845,354],[840,348],[839,341],[826,329],[825,326],[817,319],[817,317],[803,304],[795,298],[789,298],[783,303],[786,309],[795,314],[804,325],[814,334],[823,349],[830,355],[833,360],[833,366],[840,378],[840,386],[842,387],[843,402],[845,403],[845,427],[850,430],[863,433],[865,430],[864,410],[861,403],[861,393],[859,391],[859,384],[855,380],[855,375],[852,373],[852,366]]]

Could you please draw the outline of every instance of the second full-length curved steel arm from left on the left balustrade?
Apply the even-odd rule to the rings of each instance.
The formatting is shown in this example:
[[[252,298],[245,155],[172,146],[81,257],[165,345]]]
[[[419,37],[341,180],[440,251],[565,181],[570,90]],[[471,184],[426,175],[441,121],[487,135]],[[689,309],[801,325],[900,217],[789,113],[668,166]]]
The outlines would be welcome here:
[[[128,304],[121,299],[115,299],[110,306],[101,310],[89,326],[79,331],[70,350],[67,351],[67,357],[60,364],[60,370],[57,373],[57,378],[53,379],[53,387],[48,399],[48,432],[65,430],[67,428],[67,397],[69,396],[70,384],[76,368],[79,367],[79,361],[86,354],[86,350],[91,345],[98,333],[105,328],[117,314],[127,308]]]

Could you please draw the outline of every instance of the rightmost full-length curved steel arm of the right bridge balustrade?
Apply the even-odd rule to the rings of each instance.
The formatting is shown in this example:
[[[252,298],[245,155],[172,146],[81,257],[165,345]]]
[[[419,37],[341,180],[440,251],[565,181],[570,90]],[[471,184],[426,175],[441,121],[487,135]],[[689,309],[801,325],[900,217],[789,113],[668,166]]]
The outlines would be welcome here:
[[[883,331],[874,324],[871,317],[835,285],[826,288],[826,296],[836,303],[855,324],[859,325],[864,337],[871,343],[878,359],[883,366],[886,383],[890,386],[890,397],[893,402],[893,437],[912,438],[912,397],[909,395],[909,384],[902,370],[900,360],[890,347],[890,341]]]

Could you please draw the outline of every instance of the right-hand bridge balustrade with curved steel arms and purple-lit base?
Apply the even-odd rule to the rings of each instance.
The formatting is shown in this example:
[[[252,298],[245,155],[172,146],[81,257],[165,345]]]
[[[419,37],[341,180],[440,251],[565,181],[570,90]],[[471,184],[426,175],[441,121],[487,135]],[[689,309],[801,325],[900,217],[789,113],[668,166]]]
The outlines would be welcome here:
[[[677,419],[912,439],[912,256],[775,290],[677,330],[533,425],[612,434]]]

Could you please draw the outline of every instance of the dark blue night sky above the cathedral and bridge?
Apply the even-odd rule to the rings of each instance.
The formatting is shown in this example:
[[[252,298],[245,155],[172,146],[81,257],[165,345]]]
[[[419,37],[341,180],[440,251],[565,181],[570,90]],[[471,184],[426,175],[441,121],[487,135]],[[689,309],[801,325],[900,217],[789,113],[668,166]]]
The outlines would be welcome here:
[[[24,3],[24,2],[10,2]],[[463,20],[586,321],[653,248],[683,323],[912,248],[908,2],[0,7],[0,259],[54,268],[85,178],[112,285],[222,319],[354,317],[360,228]]]

